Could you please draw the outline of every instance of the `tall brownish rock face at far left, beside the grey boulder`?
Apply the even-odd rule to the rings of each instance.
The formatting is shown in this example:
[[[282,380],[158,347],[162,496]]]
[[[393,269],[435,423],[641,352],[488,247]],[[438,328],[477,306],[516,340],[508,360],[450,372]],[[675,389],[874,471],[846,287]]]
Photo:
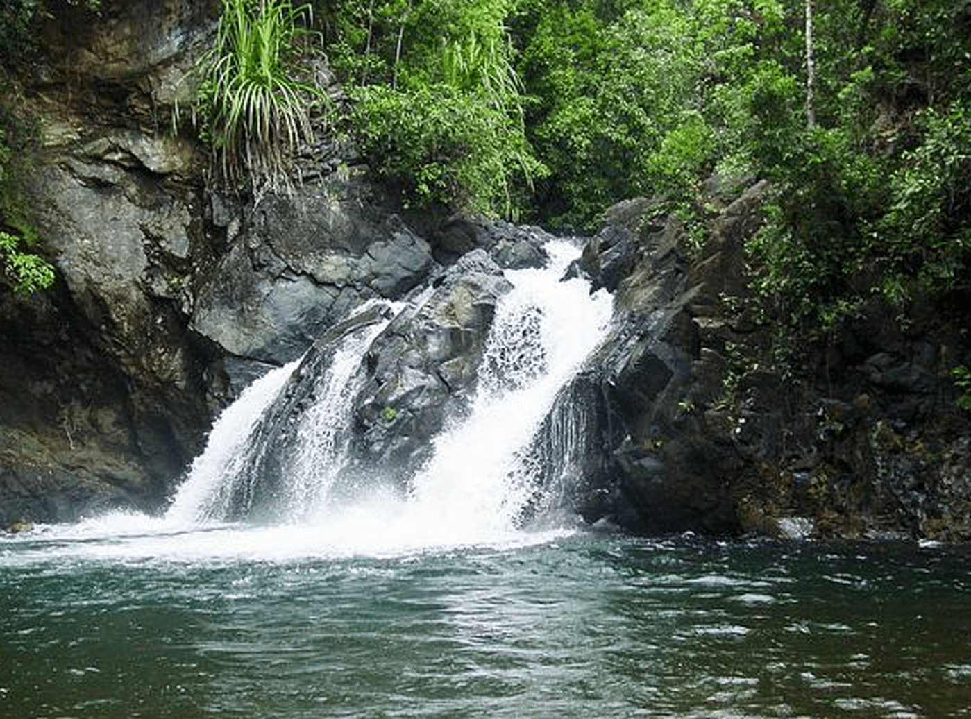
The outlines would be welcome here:
[[[51,18],[46,51],[21,68],[19,105],[45,142],[36,222],[58,281],[0,297],[4,521],[158,507],[209,422],[215,355],[183,331],[179,285],[203,236],[201,166],[154,130],[212,8],[103,5],[96,19]]]

